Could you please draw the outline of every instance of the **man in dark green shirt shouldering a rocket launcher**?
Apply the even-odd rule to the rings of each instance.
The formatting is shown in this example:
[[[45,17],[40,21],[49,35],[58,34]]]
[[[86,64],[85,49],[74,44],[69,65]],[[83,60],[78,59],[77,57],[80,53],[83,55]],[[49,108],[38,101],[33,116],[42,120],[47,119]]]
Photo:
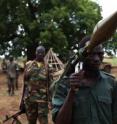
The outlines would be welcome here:
[[[86,47],[89,40],[84,38],[80,48]],[[55,124],[117,124],[115,79],[99,70],[102,46],[81,55],[82,70],[58,82],[52,99]]]

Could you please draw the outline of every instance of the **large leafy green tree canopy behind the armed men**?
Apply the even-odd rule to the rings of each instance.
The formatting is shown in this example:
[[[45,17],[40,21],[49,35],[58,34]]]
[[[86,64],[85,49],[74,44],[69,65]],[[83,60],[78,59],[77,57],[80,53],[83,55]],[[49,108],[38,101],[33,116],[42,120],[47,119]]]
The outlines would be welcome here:
[[[100,6],[90,0],[1,0],[0,54],[28,59],[39,43],[62,58],[101,19]]]

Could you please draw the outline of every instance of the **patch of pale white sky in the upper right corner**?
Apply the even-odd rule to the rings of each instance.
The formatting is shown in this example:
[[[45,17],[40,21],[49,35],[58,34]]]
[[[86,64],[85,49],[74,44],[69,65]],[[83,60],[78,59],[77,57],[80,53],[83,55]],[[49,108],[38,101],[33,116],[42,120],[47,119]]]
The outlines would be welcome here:
[[[93,0],[102,7],[102,17],[106,18],[117,11],[117,0]]]

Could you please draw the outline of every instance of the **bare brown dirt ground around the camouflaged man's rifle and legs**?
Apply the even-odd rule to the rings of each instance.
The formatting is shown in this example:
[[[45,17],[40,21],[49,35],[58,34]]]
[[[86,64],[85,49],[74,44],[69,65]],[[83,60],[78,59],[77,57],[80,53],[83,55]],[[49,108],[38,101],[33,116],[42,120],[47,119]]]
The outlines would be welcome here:
[[[23,74],[20,74],[19,76],[19,89],[15,91],[14,96],[9,96],[7,93],[7,78],[5,74],[0,73],[0,124],[3,124],[3,120],[5,119],[5,116],[13,115],[16,112],[19,111],[19,104],[21,99],[21,93],[22,93],[22,76]],[[52,124],[51,121],[51,113],[49,114],[49,124]],[[22,114],[18,117],[18,119],[22,122],[22,124],[28,124],[25,114]],[[5,122],[4,124],[11,124],[12,119]]]

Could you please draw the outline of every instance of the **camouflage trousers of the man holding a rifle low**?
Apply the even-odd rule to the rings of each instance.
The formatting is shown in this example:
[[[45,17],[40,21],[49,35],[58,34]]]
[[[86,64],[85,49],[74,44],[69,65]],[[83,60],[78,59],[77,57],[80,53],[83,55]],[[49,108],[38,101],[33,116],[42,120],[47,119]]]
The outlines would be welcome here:
[[[47,103],[25,102],[26,116],[28,124],[48,124],[48,105]]]

